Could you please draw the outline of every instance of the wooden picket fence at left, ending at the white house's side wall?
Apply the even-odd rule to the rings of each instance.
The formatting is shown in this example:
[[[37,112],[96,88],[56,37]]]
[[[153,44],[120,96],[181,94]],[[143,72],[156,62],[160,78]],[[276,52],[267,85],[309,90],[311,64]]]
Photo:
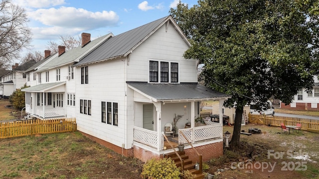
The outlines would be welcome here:
[[[0,139],[19,137],[35,134],[48,134],[58,132],[73,132],[76,131],[75,118],[60,118],[60,119],[31,119],[0,122]]]

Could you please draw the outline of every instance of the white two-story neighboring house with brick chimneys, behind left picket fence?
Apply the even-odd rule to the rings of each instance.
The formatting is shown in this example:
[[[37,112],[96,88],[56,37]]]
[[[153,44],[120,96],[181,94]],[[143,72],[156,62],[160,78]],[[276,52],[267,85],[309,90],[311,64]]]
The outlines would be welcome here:
[[[58,53],[45,51],[45,58],[26,70],[25,111],[34,117],[75,117],[75,70],[71,65],[94,50],[112,34],[91,41],[91,34],[82,33],[82,45],[65,51],[58,46]]]

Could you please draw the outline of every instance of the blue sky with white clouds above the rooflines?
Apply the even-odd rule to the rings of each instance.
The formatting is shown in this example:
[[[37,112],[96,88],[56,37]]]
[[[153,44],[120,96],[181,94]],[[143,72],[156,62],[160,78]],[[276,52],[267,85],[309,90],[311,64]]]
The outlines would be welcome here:
[[[31,50],[44,53],[60,35],[90,33],[91,39],[118,35],[169,15],[179,0],[12,0],[26,10],[32,30]],[[181,0],[188,7],[197,0]],[[26,53],[24,51],[23,53]],[[22,55],[23,56],[23,55]]]

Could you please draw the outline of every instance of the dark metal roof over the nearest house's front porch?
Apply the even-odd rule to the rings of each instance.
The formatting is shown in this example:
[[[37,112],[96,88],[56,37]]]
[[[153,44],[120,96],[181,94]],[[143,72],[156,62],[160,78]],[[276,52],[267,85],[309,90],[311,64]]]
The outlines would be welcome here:
[[[231,97],[229,94],[219,92],[199,84],[150,84],[127,83],[134,89],[154,101],[203,100]]]

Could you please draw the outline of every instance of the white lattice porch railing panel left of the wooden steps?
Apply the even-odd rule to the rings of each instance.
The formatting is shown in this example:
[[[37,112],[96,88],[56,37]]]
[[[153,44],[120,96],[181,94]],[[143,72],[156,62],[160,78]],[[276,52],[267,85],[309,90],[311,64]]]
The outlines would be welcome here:
[[[134,141],[158,148],[158,132],[134,126]]]

